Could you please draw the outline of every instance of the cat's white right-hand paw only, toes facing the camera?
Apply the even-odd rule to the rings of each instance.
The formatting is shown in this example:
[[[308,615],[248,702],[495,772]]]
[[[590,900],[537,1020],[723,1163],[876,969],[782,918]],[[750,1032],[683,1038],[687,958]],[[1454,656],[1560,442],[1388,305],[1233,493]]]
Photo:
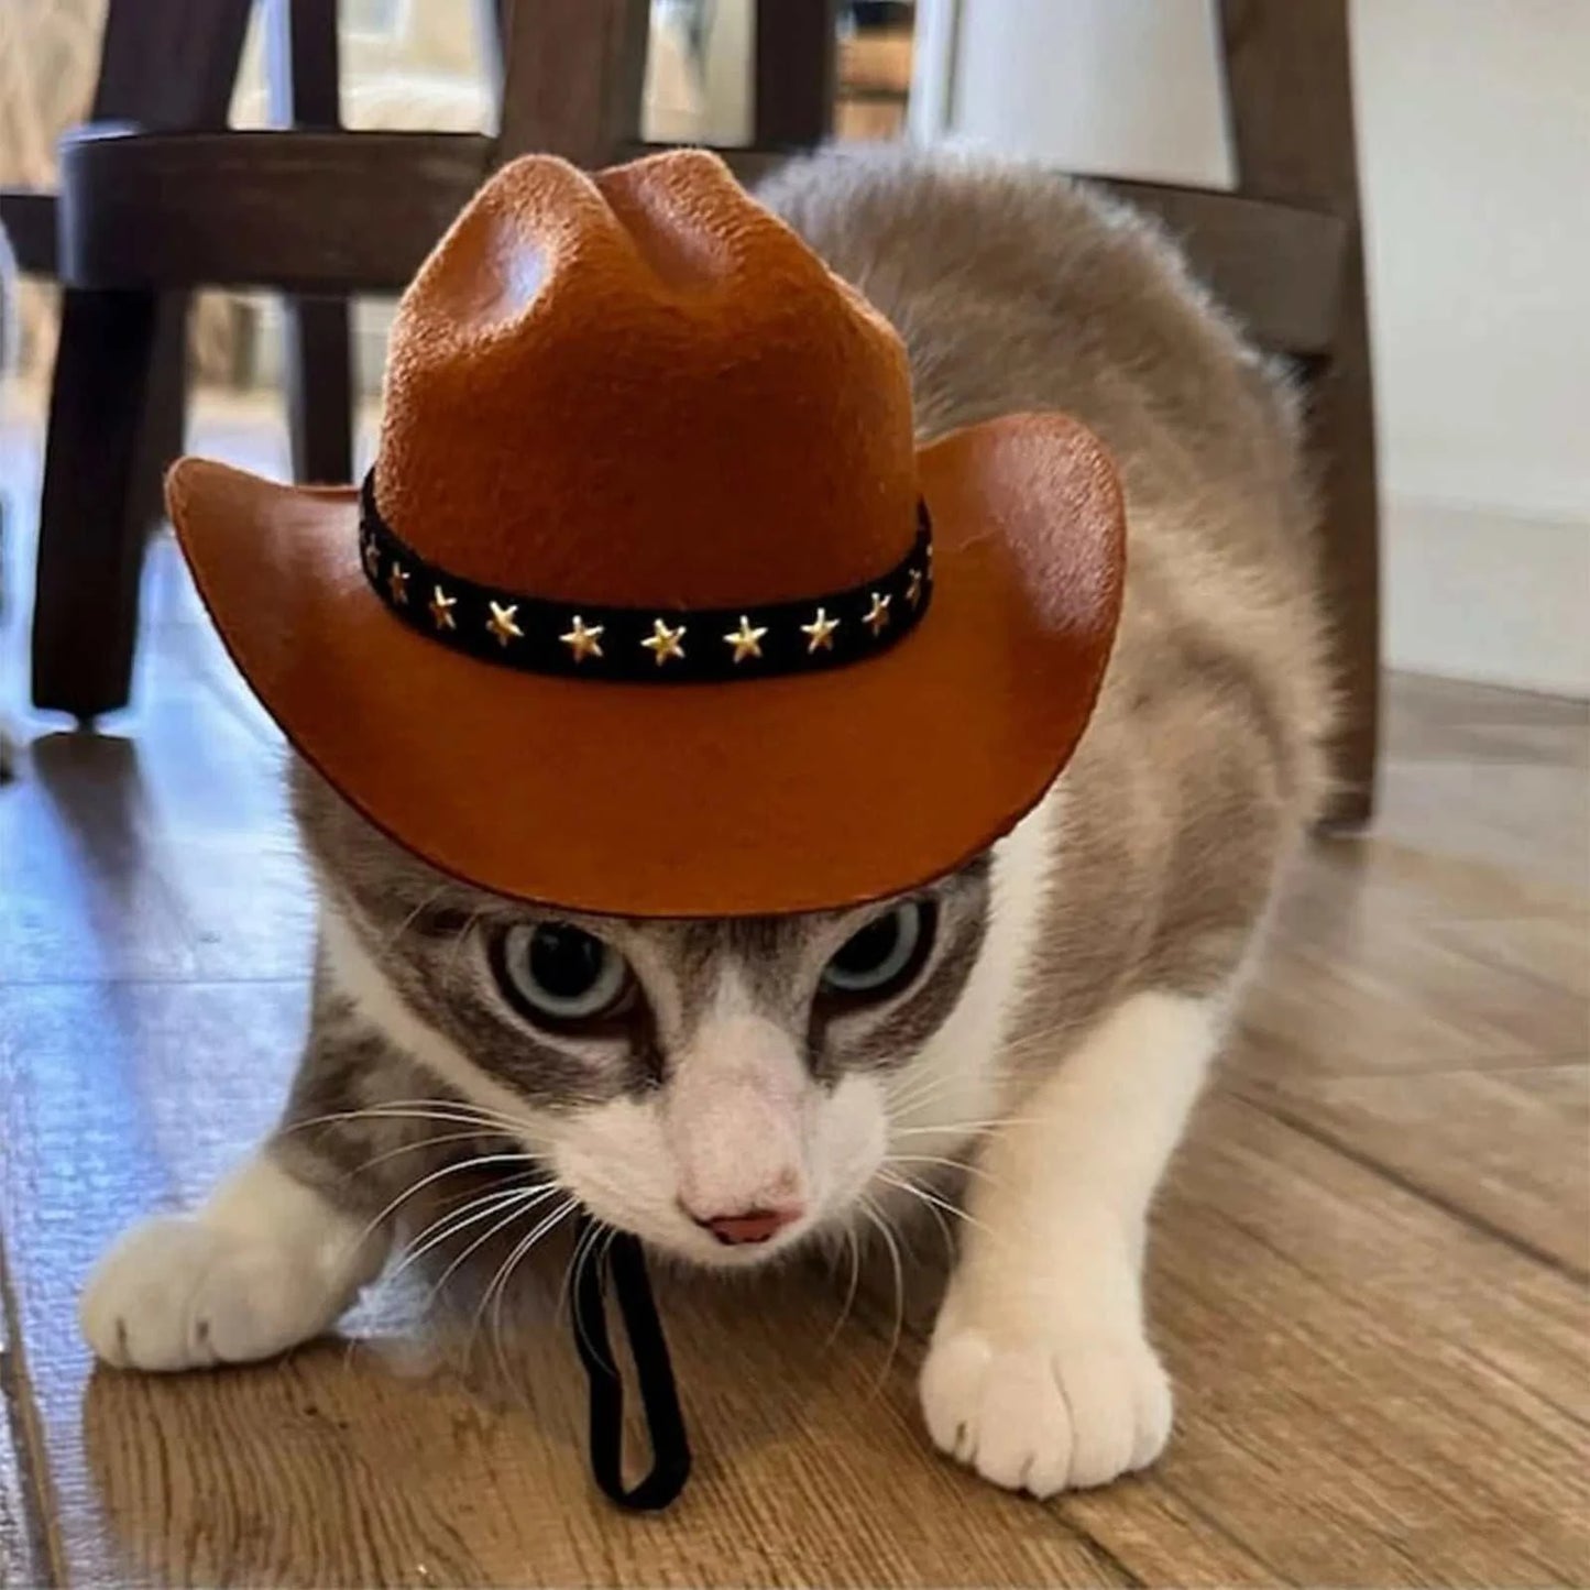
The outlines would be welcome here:
[[[1170,1382],[1135,1328],[999,1345],[976,1329],[938,1331],[921,1390],[941,1452],[1034,1496],[1140,1469],[1170,1434]]]

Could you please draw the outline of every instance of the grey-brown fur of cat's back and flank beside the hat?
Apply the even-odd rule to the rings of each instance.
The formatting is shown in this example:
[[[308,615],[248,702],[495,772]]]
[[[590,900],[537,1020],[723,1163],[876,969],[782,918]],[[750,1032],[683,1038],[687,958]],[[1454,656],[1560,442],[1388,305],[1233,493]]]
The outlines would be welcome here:
[[[1115,652],[1048,803],[1062,882],[1034,1030],[1076,1029],[1134,984],[1215,989],[1324,789],[1313,502],[1285,377],[1158,224],[1032,165],[830,149],[762,197],[900,331],[924,436],[1061,409],[1126,488]]]

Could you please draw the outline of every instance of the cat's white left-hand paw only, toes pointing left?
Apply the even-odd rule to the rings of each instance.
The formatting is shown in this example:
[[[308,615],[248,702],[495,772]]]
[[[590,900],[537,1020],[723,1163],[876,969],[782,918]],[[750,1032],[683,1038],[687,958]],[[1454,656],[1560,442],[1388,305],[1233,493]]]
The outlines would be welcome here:
[[[134,1226],[89,1277],[78,1318],[119,1369],[196,1369],[270,1358],[326,1329],[345,1267],[258,1232],[167,1215]]]

